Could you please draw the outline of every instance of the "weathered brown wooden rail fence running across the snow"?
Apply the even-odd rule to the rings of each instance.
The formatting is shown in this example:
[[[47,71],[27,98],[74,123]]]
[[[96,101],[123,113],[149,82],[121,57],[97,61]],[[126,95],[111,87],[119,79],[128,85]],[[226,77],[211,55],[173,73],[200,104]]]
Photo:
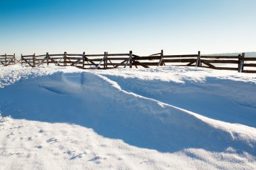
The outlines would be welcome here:
[[[7,55],[3,55],[5,58]],[[11,59],[14,57],[14,60]],[[9,63],[15,63],[15,55],[9,56]],[[5,59],[6,60],[6,59]],[[13,61],[12,61],[13,60]],[[18,61],[18,60],[16,60]],[[137,56],[132,51],[124,54],[46,54],[22,55],[21,64],[28,67],[40,65],[73,66],[80,69],[115,69],[118,67],[160,67],[176,65],[205,67],[218,70],[232,70],[239,73],[256,73],[256,57],[246,57],[245,53],[234,56],[213,56],[197,54],[164,55],[164,51],[150,56]],[[3,62],[6,63],[7,62]],[[9,64],[8,64],[9,65]]]

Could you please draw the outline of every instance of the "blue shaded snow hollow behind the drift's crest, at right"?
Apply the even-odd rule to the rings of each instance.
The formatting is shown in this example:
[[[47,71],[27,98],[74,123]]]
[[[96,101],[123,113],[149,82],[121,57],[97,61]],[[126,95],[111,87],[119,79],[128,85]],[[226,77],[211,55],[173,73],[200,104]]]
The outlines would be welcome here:
[[[104,75],[126,91],[157,99],[191,112],[256,128],[256,85],[252,82],[206,77],[182,82]]]

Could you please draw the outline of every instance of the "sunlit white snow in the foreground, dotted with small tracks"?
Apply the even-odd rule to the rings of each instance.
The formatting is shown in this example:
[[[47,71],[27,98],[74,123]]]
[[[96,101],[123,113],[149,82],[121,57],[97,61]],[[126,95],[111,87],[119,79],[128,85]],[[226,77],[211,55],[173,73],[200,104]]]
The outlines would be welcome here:
[[[233,148],[159,153],[90,128],[0,118],[0,169],[255,169],[255,157]]]

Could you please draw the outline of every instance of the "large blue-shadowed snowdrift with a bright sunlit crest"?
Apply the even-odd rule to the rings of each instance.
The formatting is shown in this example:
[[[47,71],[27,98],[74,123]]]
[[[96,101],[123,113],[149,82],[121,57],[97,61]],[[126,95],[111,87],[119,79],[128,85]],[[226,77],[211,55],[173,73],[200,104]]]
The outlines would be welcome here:
[[[171,100],[127,92],[117,82],[93,73],[62,72],[21,79],[0,89],[0,110],[15,119],[77,124],[160,152],[234,148],[256,155],[255,128],[205,118],[170,105]]]

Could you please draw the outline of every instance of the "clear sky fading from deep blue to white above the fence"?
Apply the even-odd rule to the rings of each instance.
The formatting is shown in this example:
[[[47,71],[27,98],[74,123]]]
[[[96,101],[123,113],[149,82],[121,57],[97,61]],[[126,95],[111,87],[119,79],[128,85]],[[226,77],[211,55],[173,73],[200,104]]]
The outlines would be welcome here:
[[[256,51],[256,0],[0,0],[0,54]]]

